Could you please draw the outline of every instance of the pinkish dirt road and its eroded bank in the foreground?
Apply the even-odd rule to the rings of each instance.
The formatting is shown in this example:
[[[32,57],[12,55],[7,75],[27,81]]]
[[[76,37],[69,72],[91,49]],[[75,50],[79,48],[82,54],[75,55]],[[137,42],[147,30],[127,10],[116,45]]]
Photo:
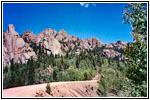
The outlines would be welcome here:
[[[97,97],[97,80],[67,81],[50,83],[51,94],[47,94],[45,84],[21,86],[3,90],[3,97],[35,97],[42,94],[44,97]]]

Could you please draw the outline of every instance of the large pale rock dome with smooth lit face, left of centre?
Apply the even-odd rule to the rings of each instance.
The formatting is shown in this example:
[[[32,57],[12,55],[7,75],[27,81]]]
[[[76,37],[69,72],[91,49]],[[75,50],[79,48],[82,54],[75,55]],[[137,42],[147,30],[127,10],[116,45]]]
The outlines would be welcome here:
[[[55,36],[56,31],[48,28],[37,35],[36,43],[41,44],[47,54],[62,55],[61,45]]]

